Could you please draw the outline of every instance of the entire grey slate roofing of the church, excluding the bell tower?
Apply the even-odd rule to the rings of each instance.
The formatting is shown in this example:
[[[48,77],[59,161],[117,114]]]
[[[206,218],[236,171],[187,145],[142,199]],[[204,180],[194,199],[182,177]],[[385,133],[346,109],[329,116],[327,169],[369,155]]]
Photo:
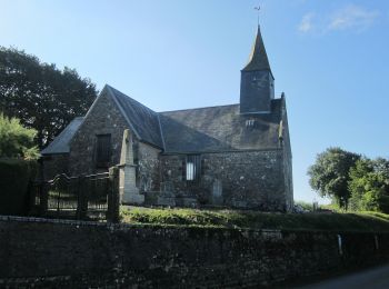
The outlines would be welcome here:
[[[282,99],[271,101],[271,113],[240,114],[239,104],[154,112],[112,87],[103,91],[113,98],[138,139],[164,153],[278,148]],[[69,152],[82,120],[70,122],[41,153]],[[253,120],[253,126],[248,127],[247,120]]]

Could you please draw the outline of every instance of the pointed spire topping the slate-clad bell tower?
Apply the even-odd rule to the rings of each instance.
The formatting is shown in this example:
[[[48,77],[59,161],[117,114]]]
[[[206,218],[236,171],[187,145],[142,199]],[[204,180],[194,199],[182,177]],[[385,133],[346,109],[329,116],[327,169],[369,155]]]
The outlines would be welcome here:
[[[271,71],[259,26],[258,26],[256,42],[253,43],[252,50],[250,53],[249,62],[242,69],[242,71],[252,71],[252,70]]]

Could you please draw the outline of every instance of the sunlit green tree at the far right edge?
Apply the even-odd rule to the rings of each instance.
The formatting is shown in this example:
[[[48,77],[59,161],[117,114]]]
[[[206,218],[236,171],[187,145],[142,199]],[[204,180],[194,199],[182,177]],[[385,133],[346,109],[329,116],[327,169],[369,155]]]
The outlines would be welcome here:
[[[389,160],[358,160],[350,170],[349,190],[353,210],[389,212]]]

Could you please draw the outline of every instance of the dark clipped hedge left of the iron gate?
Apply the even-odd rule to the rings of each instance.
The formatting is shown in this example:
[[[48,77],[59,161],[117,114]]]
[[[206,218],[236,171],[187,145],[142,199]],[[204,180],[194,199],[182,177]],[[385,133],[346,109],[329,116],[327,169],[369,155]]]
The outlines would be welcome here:
[[[28,186],[37,172],[36,161],[0,159],[0,215],[27,215]]]

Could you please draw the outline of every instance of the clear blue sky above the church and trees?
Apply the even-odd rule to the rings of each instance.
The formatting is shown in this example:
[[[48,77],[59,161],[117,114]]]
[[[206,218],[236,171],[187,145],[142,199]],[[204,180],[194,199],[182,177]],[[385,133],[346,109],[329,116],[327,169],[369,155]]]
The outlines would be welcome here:
[[[156,111],[239,102],[259,22],[283,91],[295,200],[329,147],[389,158],[387,0],[0,0],[0,46],[74,68]]]

